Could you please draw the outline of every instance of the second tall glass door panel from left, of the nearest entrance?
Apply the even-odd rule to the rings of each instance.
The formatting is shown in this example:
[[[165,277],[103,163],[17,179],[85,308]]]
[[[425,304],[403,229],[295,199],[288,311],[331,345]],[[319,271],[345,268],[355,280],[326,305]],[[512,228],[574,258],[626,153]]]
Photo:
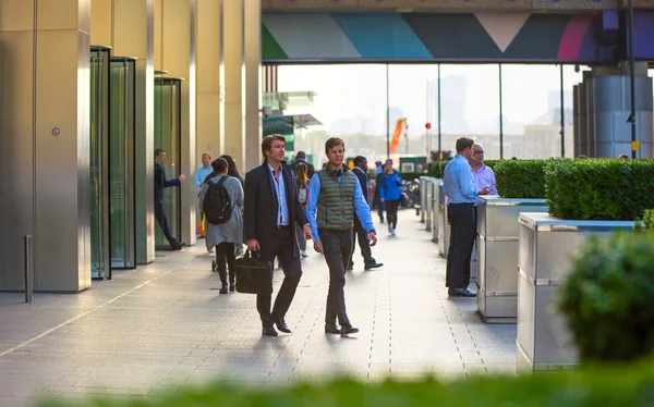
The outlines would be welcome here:
[[[111,267],[136,267],[134,189],[136,59],[112,57],[110,78]]]

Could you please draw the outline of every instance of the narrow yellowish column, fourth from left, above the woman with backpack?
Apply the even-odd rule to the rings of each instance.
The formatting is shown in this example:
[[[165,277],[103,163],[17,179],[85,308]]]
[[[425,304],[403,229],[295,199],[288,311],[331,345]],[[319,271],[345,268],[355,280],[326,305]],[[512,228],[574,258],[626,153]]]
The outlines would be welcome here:
[[[197,0],[197,134],[195,162],[202,155],[219,157],[221,0]],[[196,169],[195,169],[196,170]],[[195,173],[193,173],[195,176]]]

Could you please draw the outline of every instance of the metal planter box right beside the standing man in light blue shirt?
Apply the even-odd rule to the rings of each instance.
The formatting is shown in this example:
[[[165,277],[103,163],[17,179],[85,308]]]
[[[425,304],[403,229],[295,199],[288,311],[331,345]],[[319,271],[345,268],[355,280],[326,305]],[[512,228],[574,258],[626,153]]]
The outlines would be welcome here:
[[[545,199],[477,198],[477,309],[487,323],[518,318],[518,218],[546,212]]]

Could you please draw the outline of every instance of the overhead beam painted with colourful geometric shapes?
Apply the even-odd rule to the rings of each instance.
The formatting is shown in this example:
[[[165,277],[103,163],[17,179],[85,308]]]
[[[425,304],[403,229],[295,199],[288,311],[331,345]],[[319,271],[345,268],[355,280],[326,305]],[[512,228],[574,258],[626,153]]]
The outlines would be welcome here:
[[[635,18],[635,55],[654,59],[654,12]],[[615,11],[529,13],[264,14],[264,62],[615,62],[623,58]]]

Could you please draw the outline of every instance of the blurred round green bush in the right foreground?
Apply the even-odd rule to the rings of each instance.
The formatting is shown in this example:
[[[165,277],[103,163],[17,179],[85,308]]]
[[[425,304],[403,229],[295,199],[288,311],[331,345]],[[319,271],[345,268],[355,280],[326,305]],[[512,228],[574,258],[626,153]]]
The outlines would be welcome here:
[[[572,259],[559,310],[582,360],[630,361],[654,349],[654,234],[590,238]]]

